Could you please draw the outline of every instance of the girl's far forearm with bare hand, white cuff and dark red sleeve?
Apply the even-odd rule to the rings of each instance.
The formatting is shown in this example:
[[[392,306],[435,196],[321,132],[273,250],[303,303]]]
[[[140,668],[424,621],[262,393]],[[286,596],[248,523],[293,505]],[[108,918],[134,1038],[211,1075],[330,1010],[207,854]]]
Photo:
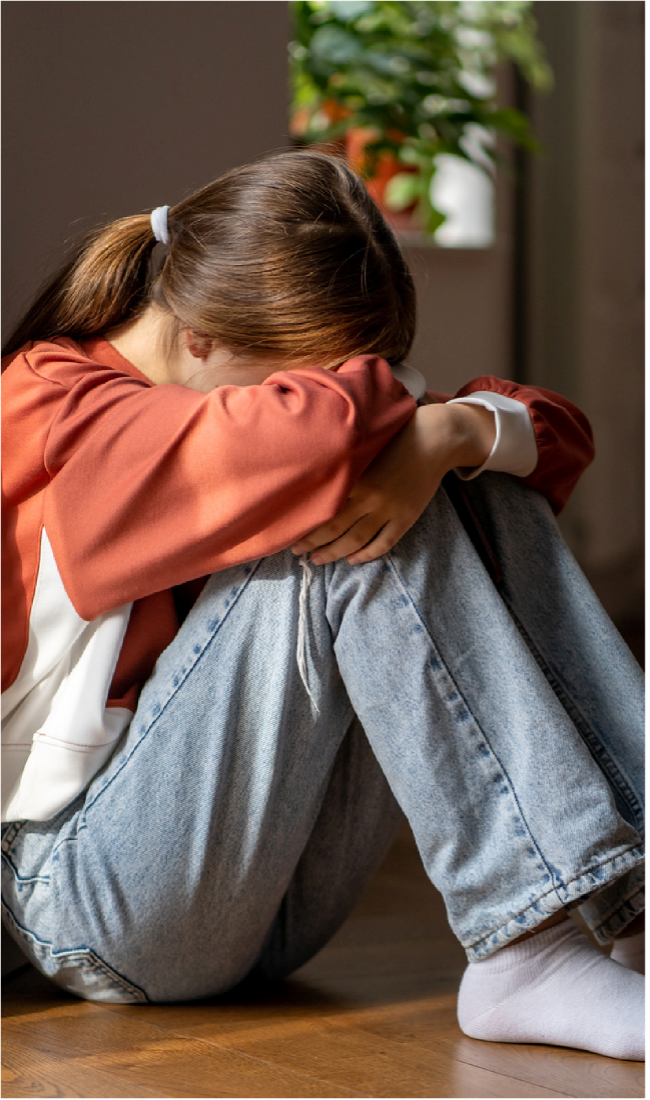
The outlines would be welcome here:
[[[519,475],[558,513],[593,459],[586,417],[550,391],[483,376],[453,400],[434,394],[429,400],[370,465],[339,515],[296,542],[295,553],[311,552],[316,564],[373,561],[412,526],[450,470],[465,479],[484,470]]]

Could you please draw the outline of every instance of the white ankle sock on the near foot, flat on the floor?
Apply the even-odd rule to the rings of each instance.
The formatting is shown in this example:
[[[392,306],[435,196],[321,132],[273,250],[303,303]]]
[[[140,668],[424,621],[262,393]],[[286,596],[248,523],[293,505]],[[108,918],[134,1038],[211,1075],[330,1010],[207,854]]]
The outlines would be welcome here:
[[[646,979],[603,955],[571,921],[470,963],[459,993],[465,1035],[646,1057]]]

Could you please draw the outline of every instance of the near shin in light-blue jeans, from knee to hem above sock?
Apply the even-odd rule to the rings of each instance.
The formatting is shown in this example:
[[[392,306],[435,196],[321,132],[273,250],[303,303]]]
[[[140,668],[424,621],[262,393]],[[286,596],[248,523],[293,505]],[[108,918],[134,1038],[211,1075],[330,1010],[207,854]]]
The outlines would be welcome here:
[[[330,583],[339,666],[470,958],[641,866],[638,833],[444,496],[360,573],[334,568]]]

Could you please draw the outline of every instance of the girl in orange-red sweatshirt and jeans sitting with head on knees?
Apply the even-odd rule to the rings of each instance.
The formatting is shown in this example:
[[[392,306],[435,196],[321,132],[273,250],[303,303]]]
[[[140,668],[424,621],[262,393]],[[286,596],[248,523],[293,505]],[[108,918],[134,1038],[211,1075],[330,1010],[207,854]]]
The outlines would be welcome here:
[[[96,1000],[279,977],[401,806],[463,1030],[639,1058],[639,673],[530,492],[561,507],[588,426],[494,378],[416,408],[414,330],[377,209],[305,152],[107,227],[19,326],[4,920]]]

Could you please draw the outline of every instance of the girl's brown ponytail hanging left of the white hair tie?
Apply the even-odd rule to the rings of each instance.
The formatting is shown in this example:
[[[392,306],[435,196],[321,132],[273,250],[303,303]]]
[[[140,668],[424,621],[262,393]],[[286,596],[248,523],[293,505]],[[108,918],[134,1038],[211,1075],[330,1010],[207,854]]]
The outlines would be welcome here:
[[[148,215],[122,218],[91,233],[43,287],[0,356],[30,340],[79,339],[133,318],[148,296],[155,243]]]

